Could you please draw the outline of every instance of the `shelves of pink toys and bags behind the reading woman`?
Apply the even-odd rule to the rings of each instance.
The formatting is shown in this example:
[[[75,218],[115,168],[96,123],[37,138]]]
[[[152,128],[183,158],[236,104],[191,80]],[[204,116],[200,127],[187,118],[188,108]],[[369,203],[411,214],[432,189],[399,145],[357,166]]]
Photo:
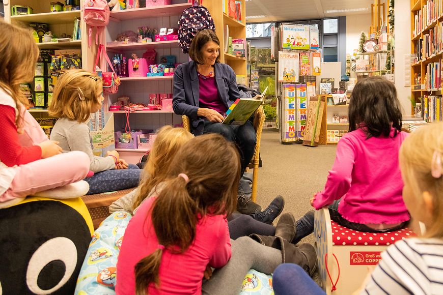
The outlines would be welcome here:
[[[130,163],[138,162],[149,149],[138,142],[131,146],[134,149],[120,146],[125,142],[120,132],[127,125],[131,132],[152,133],[164,125],[182,124],[181,116],[172,110],[172,81],[177,65],[188,61],[176,35],[180,15],[191,4],[181,2],[157,1],[150,3],[158,5],[146,8],[112,11],[105,28],[107,55],[121,82],[117,93],[105,96],[105,112],[114,117],[116,150]],[[131,140],[136,142],[137,135]]]

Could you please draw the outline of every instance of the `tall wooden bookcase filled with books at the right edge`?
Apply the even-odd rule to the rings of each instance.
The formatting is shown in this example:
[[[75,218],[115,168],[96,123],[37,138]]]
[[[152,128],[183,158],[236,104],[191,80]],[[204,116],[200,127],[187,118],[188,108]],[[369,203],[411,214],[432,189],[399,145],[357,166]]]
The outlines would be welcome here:
[[[411,53],[417,54],[421,52],[416,63],[411,62],[411,98],[419,103],[425,95],[441,96],[440,85],[433,85],[429,83],[431,77],[427,68],[433,63],[439,63],[439,71],[435,71],[436,78],[434,80],[441,80],[441,65],[443,57],[443,40],[441,38],[443,30],[443,0],[410,0],[411,1]],[[435,7],[432,13],[429,7]],[[416,25],[416,15],[422,15],[424,21]],[[428,16],[427,16],[428,15]],[[426,38],[429,35],[435,35],[432,46],[427,47]],[[440,37],[439,37],[440,36]],[[423,41],[425,40],[425,41]],[[421,50],[420,50],[420,45]],[[438,72],[438,73],[437,73]],[[416,83],[416,76],[421,76],[419,83]],[[414,113],[411,108],[411,114]]]

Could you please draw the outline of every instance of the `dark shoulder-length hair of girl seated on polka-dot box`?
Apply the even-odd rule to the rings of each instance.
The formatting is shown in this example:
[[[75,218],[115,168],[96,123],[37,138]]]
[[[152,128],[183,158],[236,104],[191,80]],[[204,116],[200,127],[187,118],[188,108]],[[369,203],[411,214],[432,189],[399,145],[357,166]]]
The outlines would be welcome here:
[[[349,132],[363,128],[367,138],[394,137],[401,131],[401,110],[395,85],[382,77],[358,80],[349,103]]]

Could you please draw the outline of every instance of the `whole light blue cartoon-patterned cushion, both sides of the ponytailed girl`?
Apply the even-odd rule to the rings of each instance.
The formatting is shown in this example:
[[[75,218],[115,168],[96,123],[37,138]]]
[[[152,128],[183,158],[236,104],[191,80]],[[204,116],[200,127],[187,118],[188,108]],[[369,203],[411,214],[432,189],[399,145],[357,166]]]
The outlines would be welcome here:
[[[131,217],[126,212],[114,212],[94,232],[78,276],[76,295],[115,294],[117,256]],[[273,295],[272,276],[250,270],[240,295],[253,294]]]

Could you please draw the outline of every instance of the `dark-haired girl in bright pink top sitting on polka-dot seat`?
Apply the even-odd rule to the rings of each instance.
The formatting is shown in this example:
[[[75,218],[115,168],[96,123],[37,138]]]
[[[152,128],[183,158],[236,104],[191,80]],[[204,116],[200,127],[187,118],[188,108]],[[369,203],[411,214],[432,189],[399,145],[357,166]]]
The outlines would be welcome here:
[[[381,77],[359,80],[349,104],[349,132],[337,145],[336,160],[315,209],[329,205],[331,219],[361,231],[389,231],[409,220],[402,198],[398,155],[406,138],[393,83]]]

